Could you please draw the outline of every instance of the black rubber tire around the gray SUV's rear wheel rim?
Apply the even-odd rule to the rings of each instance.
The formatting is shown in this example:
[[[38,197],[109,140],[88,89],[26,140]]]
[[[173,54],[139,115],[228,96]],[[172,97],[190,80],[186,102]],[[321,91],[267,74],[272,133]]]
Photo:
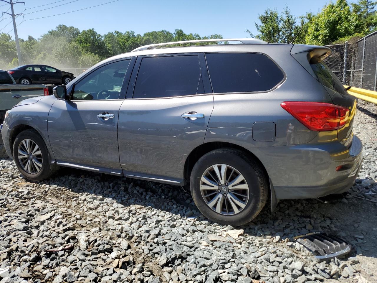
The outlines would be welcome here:
[[[224,215],[211,209],[200,190],[202,174],[212,165],[226,164],[239,171],[249,188],[249,197],[245,208],[234,215]],[[268,197],[267,177],[254,161],[241,151],[231,148],[216,149],[203,155],[196,162],[190,176],[190,190],[198,209],[208,219],[224,225],[239,226],[253,220],[264,207]]]

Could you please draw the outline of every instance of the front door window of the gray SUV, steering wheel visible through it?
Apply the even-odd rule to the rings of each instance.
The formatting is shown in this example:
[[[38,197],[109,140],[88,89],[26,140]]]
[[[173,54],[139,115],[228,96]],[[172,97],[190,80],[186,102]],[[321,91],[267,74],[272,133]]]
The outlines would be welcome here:
[[[104,65],[74,86],[72,100],[118,99],[130,60]]]

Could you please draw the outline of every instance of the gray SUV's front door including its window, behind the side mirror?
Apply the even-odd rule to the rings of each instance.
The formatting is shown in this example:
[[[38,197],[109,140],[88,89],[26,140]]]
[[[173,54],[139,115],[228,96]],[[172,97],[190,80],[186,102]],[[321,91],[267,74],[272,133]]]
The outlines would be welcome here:
[[[52,105],[48,134],[57,164],[121,174],[118,114],[134,61],[96,68],[68,89],[70,100],[58,99]]]

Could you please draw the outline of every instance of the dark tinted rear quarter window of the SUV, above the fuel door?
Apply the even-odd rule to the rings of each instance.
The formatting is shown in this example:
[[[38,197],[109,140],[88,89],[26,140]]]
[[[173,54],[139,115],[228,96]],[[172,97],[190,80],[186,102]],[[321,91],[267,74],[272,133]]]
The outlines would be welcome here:
[[[268,91],[284,75],[266,55],[259,53],[207,53],[213,92]]]

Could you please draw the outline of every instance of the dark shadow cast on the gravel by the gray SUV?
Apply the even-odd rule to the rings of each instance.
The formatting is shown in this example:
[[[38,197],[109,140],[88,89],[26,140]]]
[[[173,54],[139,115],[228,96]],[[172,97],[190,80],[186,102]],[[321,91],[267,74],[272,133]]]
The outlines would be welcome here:
[[[175,215],[180,214],[181,217],[197,217],[197,220],[204,225],[214,224],[196,208],[190,192],[179,186],[70,168],[58,171],[58,175],[63,174],[70,181],[61,185],[72,192],[88,192],[110,197],[126,207],[131,204],[151,206]],[[361,179],[357,180],[359,184],[362,182]],[[59,177],[52,178],[47,183],[57,184]],[[80,183],[86,185],[80,186],[78,185]],[[91,186],[93,183],[99,186]],[[127,200],[120,198],[120,190],[129,196]],[[308,232],[324,231],[348,241],[353,247],[349,256],[358,254],[377,258],[375,245],[377,203],[354,197],[358,192],[359,190],[354,186],[349,191],[351,194],[344,194],[345,197],[330,195],[321,199],[284,200],[279,202],[274,212],[270,211],[267,203],[251,223],[237,228],[244,229],[246,235],[271,240],[271,245],[287,248],[293,253],[297,253],[297,250],[295,244],[290,242],[292,237]]]

